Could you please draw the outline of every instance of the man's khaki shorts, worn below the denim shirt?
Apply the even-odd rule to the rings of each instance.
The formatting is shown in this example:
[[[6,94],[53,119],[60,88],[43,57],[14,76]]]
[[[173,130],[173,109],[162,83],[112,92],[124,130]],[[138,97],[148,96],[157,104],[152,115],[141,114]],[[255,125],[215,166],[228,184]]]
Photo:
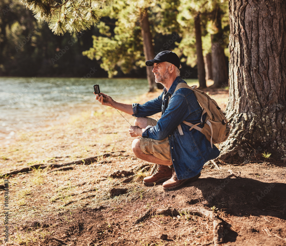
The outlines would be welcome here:
[[[147,125],[155,126],[158,120],[147,118]],[[155,140],[149,137],[140,137],[140,149],[144,154],[152,154],[163,161],[171,161],[170,144],[168,137]]]

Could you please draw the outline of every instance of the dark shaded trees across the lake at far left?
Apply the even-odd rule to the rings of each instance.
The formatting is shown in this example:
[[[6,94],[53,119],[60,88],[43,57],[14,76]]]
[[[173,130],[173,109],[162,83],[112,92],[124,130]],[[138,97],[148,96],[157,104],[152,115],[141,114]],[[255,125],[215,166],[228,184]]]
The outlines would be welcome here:
[[[97,63],[82,56],[92,46],[92,35],[98,35],[95,27],[57,36],[19,1],[1,0],[0,10],[0,76],[83,77],[92,68],[106,77]]]

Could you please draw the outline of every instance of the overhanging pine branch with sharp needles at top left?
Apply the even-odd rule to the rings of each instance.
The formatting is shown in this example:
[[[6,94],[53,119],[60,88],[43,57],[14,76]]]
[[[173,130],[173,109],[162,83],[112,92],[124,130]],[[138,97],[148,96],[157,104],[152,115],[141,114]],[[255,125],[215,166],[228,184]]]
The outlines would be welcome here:
[[[27,8],[33,11],[35,18],[49,23],[49,28],[57,35],[65,32],[78,33],[98,23],[101,8],[108,1],[99,0],[20,0]]]

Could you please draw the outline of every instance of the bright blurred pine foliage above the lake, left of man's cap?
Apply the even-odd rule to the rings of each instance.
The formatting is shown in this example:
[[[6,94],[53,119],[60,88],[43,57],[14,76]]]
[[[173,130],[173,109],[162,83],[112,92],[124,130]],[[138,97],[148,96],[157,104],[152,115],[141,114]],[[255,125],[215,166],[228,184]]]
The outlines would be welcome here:
[[[108,77],[145,67],[141,35],[141,19],[147,13],[152,34],[170,34],[178,30],[176,8],[179,1],[115,0],[102,11],[98,28],[102,36],[93,36],[93,47],[83,52],[90,59],[100,60]]]

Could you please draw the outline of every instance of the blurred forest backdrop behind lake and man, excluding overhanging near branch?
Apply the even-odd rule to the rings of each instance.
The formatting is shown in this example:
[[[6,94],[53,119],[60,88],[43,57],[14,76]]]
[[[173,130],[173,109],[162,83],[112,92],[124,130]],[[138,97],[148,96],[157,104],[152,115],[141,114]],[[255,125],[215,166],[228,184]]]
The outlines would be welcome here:
[[[49,24],[36,20],[17,0],[1,1],[0,76],[83,77],[94,69],[91,77],[146,77],[145,17],[153,57],[162,50],[174,51],[182,62],[181,75],[197,78],[196,45],[200,45],[204,74],[212,79],[211,53],[219,47],[214,64],[223,63],[220,83],[228,85],[228,1],[148,1],[148,6],[140,2],[114,1],[101,8],[96,26],[77,32],[55,27],[59,21],[55,17]],[[204,80],[204,75],[200,77]],[[205,87],[205,80],[202,83]]]

